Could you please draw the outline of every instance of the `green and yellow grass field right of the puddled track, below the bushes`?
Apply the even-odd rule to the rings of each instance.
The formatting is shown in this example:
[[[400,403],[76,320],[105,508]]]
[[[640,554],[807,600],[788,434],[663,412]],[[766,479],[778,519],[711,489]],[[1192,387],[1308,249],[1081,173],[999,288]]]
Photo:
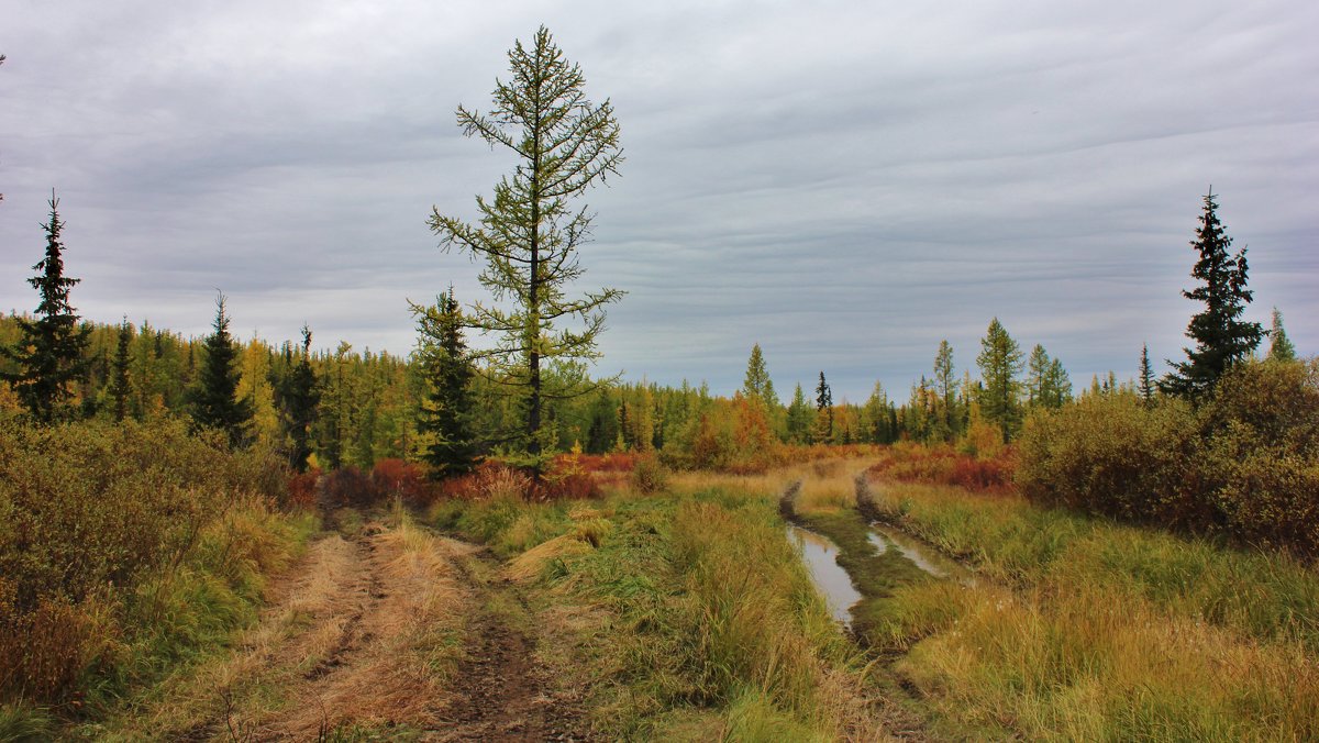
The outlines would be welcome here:
[[[938,717],[988,736],[1319,736],[1314,570],[1016,496],[876,490],[992,578],[897,589],[873,630],[910,649],[896,670]]]

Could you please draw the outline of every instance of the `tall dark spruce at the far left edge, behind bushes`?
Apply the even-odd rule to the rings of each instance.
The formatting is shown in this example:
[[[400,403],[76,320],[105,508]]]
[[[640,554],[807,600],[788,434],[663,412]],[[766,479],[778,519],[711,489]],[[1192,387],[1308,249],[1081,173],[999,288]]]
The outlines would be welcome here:
[[[79,323],[69,304],[69,290],[80,280],[65,276],[65,245],[59,239],[65,223],[54,191],[47,203],[50,220],[41,226],[46,231],[46,255],[32,267],[37,276],[28,280],[40,297],[36,317],[16,318],[18,342],[0,347],[0,355],[17,366],[17,371],[0,372],[0,379],[13,385],[28,413],[44,424],[77,414],[69,400],[73,385],[87,373],[90,359],[84,356],[91,335],[91,327]]]

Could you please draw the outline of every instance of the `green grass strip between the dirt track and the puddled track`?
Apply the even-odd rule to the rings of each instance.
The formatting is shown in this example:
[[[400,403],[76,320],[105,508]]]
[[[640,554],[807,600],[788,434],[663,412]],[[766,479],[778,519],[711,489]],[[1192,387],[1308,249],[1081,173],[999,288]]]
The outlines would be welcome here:
[[[547,560],[529,595],[542,616],[579,618],[546,631],[571,645],[565,662],[587,676],[587,706],[608,735],[873,736],[878,721],[855,703],[860,659],[772,495],[711,487],[572,505],[446,504],[434,517],[506,554],[561,534],[584,540],[583,525],[596,524],[595,546]]]

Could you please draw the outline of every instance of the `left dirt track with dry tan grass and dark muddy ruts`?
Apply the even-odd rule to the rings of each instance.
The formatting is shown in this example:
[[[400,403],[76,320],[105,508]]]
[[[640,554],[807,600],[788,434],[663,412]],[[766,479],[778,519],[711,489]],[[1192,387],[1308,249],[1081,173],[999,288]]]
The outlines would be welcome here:
[[[146,738],[584,740],[499,565],[406,523],[317,540],[224,657],[162,689]],[[136,730],[135,730],[136,728]]]

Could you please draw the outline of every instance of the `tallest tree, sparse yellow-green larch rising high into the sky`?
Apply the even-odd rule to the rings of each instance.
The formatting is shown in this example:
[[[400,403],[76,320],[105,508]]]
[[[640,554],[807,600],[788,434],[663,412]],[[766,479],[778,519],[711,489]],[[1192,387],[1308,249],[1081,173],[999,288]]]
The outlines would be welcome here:
[[[468,224],[438,209],[431,230],[446,251],[456,248],[485,263],[480,282],[496,302],[475,304],[470,325],[496,337],[477,356],[492,362],[496,381],[521,395],[525,408],[524,445],[539,475],[547,399],[590,389],[586,368],[547,379],[555,362],[599,358],[596,338],[604,330],[604,307],[623,297],[617,289],[567,296],[583,268],[578,248],[591,235],[588,207],[574,201],[592,185],[617,174],[623,162],[619,123],[607,99],[596,106],[586,96],[578,65],[565,59],[550,32],[541,26],[530,49],[518,41],[508,54],[509,82],[496,81],[488,113],[459,106],[458,124],[467,136],[479,136],[492,148],[517,158],[512,176],[495,186],[495,198],[476,198],[480,219]],[[576,329],[561,327],[575,322]]]

